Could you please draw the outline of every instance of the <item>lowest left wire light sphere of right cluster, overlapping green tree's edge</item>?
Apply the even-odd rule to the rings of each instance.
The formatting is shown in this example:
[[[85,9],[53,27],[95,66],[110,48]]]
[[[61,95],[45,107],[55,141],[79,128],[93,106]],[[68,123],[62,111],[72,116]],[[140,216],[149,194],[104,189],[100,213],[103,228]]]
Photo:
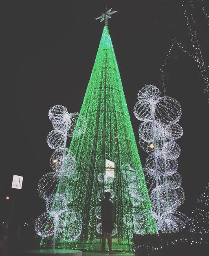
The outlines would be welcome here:
[[[146,234],[151,231],[150,227],[154,218],[149,210],[133,214],[133,219],[135,234]]]

